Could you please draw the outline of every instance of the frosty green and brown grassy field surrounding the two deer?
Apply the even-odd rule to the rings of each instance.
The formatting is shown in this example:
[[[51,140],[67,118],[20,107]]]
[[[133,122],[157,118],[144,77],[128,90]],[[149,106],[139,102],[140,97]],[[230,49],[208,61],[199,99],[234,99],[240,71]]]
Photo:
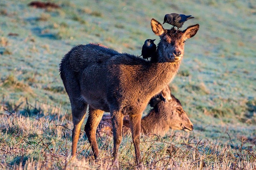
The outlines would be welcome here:
[[[194,130],[142,135],[141,168],[256,168],[254,0],[51,1],[58,9],[30,2],[0,2],[0,169],[110,169],[112,137],[98,139],[100,159],[94,160],[83,126],[78,159],[70,160],[73,125],[60,60],[73,46],[91,42],[140,55],[145,39],[159,39],[150,20],[162,23],[173,12],[195,17],[184,29],[200,25],[170,84]],[[119,164],[134,167],[129,135]]]

